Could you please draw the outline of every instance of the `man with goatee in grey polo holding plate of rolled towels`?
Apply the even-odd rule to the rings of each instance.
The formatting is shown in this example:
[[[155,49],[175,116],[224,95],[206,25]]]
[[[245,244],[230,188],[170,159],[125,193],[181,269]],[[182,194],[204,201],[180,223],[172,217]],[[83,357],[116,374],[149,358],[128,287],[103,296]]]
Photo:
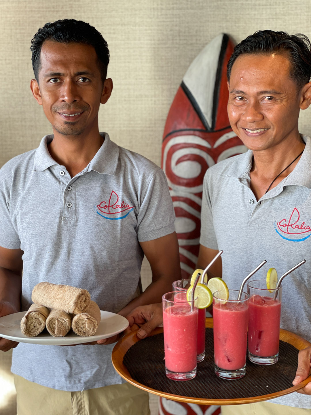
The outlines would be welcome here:
[[[85,288],[100,309],[126,316],[160,301],[180,275],[165,175],[99,132],[112,80],[107,43],[94,27],[48,23],[32,53],[32,93],[54,134],[0,171],[0,316],[27,310],[40,281]],[[153,281],[141,293],[144,255]],[[60,347],[0,339],[0,350],[16,347],[19,415],[148,414],[148,394],[112,367],[113,341]]]

